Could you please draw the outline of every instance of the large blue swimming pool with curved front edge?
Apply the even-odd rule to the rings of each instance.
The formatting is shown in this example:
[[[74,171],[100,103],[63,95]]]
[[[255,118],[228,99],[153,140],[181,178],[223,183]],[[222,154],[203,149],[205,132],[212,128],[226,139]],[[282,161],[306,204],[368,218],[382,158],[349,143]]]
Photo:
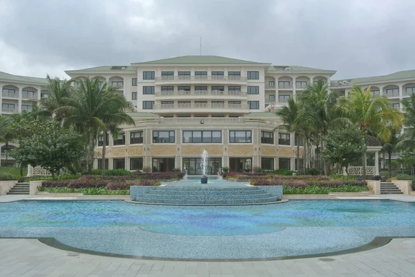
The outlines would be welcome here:
[[[415,236],[415,203],[306,200],[181,207],[122,201],[0,204],[0,237],[160,258],[270,258],[340,251],[376,236]]]

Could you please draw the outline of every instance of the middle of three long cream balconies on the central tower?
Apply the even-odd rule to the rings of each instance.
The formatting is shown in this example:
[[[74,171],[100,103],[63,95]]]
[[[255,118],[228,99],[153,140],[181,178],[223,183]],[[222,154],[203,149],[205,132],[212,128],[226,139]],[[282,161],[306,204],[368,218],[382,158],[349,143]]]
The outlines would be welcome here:
[[[176,99],[185,97],[186,99],[209,99],[223,97],[228,99],[244,99],[246,91],[224,91],[224,90],[178,90],[178,91],[159,91],[155,93],[156,99]]]

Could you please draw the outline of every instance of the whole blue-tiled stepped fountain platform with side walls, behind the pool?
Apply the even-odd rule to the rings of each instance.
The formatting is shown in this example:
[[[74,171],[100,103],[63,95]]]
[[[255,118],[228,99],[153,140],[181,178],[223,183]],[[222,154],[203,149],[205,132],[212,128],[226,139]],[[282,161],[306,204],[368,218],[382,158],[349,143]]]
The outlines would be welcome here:
[[[226,180],[180,180],[159,187],[131,187],[131,202],[171,205],[275,204],[282,200],[282,187],[256,187]]]

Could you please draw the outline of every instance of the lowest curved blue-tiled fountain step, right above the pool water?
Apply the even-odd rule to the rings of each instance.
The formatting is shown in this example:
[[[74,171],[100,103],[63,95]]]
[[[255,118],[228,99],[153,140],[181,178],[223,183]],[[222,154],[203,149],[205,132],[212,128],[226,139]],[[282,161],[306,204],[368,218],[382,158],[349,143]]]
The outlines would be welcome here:
[[[276,197],[270,198],[257,198],[257,199],[213,199],[213,200],[169,200],[169,199],[160,199],[158,202],[154,202],[153,199],[141,198],[140,203],[147,204],[188,204],[188,205],[203,205],[203,204],[265,204],[270,202],[277,202]]]

